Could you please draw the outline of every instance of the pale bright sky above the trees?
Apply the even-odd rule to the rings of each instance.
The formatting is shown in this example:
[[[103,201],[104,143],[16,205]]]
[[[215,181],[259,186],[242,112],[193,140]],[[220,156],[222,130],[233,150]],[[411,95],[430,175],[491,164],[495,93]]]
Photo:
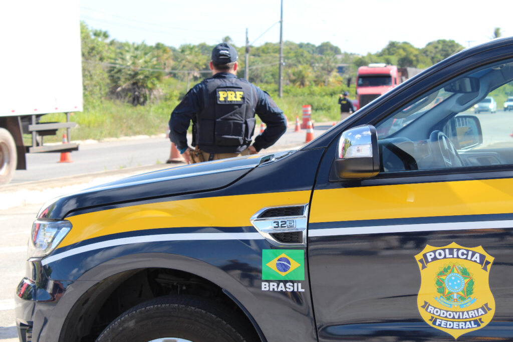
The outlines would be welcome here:
[[[511,2],[496,0],[283,0],[283,40],[367,54],[389,41],[422,48],[439,39],[464,47],[489,41],[499,27],[513,35]],[[112,39],[150,45],[222,42],[236,46],[280,41],[280,0],[81,0],[80,17]]]

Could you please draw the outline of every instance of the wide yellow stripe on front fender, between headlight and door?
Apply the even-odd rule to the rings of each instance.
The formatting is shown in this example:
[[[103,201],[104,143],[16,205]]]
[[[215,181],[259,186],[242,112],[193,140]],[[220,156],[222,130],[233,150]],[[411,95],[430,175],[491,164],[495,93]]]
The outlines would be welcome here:
[[[263,207],[305,204],[310,191],[195,198],[113,208],[71,216],[73,228],[64,247],[100,236],[173,227],[250,226],[250,217]]]

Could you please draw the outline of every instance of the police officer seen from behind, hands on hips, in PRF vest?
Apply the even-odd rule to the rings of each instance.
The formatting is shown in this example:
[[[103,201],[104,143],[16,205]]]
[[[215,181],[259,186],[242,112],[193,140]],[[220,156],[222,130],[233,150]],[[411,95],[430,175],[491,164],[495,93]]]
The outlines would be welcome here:
[[[169,139],[188,163],[257,154],[287,129],[283,111],[269,94],[236,77],[237,52],[221,43],[212,50],[212,77],[192,87],[174,108]],[[255,113],[267,125],[252,142]],[[192,121],[192,146],[187,128]]]

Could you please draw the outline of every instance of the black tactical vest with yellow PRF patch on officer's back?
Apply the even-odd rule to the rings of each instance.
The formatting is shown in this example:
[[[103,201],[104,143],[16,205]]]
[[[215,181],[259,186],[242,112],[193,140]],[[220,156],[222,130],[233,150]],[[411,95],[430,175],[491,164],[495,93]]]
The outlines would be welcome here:
[[[204,109],[196,118],[196,143],[207,153],[239,153],[249,146],[258,98],[251,84],[237,78],[203,80]]]

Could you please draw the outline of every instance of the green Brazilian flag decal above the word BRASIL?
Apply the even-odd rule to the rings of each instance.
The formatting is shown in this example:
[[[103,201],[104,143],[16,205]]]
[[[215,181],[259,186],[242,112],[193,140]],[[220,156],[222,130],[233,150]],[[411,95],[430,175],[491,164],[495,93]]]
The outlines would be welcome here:
[[[262,279],[305,280],[305,251],[262,250]]]

